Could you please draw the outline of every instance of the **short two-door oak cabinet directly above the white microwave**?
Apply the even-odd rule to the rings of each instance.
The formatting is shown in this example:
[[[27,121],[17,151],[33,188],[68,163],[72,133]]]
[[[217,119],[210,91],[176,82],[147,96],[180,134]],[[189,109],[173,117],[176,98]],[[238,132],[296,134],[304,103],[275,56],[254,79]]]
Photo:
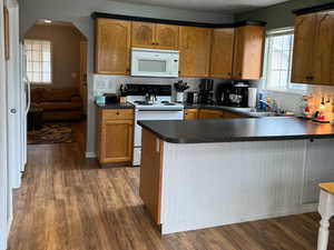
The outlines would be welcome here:
[[[132,22],[132,47],[178,49],[178,26]]]

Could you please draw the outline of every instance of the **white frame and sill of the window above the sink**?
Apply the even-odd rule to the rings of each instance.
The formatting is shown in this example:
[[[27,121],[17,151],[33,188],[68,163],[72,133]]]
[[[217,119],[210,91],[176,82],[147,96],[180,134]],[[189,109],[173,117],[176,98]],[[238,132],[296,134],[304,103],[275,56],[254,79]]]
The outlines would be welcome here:
[[[267,76],[268,76],[268,60],[269,60],[269,39],[268,38],[277,37],[277,36],[284,36],[284,34],[293,34],[293,33],[294,33],[294,28],[293,27],[269,30],[269,31],[266,32],[263,78],[262,78],[262,81],[261,81],[262,89],[279,91],[279,92],[301,93],[301,94],[306,94],[308,92],[308,86],[306,86],[306,84],[301,84],[299,86],[299,83],[294,83],[294,82],[291,82],[291,81],[287,82],[285,88],[275,88],[275,87],[269,87],[268,86],[268,79],[267,79]],[[294,43],[292,43],[292,48],[291,48],[289,68],[292,67],[293,46],[294,46]],[[289,73],[288,79],[291,79],[291,73]],[[298,84],[301,88],[296,88],[298,86],[295,86],[295,84]]]

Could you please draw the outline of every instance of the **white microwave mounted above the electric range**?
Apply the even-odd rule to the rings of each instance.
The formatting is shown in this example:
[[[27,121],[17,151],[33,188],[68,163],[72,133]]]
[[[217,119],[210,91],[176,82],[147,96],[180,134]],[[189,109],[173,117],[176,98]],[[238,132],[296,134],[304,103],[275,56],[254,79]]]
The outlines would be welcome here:
[[[132,48],[131,76],[177,78],[178,62],[178,50]]]

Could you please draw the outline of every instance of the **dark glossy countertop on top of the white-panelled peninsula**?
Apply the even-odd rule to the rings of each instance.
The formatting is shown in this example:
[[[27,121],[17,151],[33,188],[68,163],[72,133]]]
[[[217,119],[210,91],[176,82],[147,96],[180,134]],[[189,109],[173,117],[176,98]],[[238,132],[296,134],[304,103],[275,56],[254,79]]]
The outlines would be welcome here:
[[[171,143],[334,138],[334,126],[286,117],[138,121],[138,124]]]

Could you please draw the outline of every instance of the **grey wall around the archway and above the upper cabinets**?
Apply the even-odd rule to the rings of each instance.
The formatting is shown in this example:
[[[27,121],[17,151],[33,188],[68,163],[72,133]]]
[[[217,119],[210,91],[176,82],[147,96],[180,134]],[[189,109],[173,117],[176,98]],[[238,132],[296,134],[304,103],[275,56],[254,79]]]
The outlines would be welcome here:
[[[128,14],[159,19],[175,19],[200,22],[233,22],[233,16],[177,10],[163,7],[120,3],[109,0],[20,0],[21,36],[38,19],[70,21],[86,36],[88,40],[88,131],[87,151],[95,151],[95,106],[94,90],[94,11]]]

